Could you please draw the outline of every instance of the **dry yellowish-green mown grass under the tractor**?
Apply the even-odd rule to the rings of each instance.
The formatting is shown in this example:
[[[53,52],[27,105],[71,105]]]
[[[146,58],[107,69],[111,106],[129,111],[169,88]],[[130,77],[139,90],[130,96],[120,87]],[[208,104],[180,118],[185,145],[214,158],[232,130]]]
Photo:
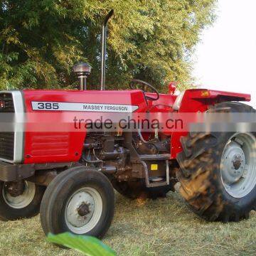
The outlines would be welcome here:
[[[255,255],[256,213],[240,223],[207,223],[177,193],[157,201],[117,195],[112,226],[103,240],[117,255]],[[0,222],[0,255],[80,255],[46,242],[39,216]]]

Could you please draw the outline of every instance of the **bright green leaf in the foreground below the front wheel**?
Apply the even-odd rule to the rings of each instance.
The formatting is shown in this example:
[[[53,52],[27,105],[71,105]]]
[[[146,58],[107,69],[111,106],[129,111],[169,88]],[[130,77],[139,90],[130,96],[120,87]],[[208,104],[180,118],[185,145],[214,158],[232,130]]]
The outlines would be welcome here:
[[[87,256],[117,255],[114,250],[105,245],[102,241],[88,235],[73,235],[68,232],[58,235],[49,233],[47,239],[49,242],[84,252]]]

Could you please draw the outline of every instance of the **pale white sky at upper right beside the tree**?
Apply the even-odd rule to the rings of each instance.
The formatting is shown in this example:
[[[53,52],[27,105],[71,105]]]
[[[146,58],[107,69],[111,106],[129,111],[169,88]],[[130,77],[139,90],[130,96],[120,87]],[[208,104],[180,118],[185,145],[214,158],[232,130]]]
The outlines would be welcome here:
[[[256,108],[256,0],[218,0],[217,16],[196,49],[196,83],[249,93]]]

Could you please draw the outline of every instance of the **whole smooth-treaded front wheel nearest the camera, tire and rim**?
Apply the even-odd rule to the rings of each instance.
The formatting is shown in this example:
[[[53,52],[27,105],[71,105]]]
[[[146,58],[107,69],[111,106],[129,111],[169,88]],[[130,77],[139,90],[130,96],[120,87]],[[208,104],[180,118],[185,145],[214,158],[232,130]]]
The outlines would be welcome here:
[[[70,232],[102,238],[114,215],[114,190],[97,170],[68,169],[46,189],[40,215],[46,235]]]

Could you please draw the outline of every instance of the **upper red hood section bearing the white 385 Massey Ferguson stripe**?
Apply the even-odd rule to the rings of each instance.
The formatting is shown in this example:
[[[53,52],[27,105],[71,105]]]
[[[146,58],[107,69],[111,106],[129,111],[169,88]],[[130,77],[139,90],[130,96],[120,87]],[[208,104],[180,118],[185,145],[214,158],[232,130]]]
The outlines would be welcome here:
[[[23,90],[26,112],[143,112],[141,90]]]

